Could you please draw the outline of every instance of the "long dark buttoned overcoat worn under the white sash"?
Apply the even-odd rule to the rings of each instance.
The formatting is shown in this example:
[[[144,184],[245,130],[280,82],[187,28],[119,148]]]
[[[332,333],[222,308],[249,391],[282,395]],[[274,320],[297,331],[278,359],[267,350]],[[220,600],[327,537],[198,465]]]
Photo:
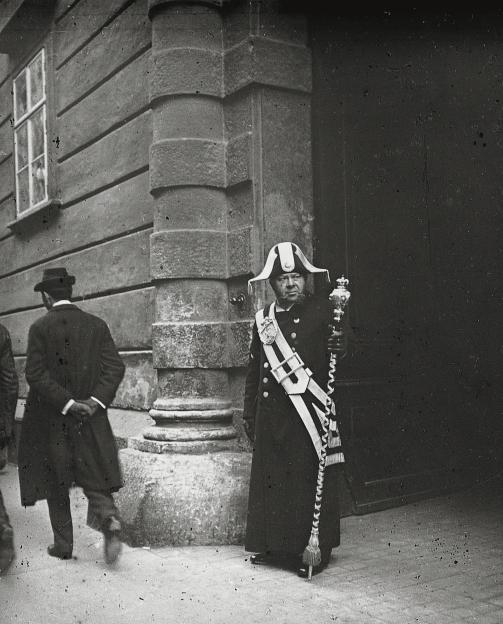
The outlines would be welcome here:
[[[328,302],[314,297],[306,298],[288,312],[276,312],[287,342],[324,389],[330,318]],[[288,395],[270,374],[256,324],[243,418],[254,440],[245,548],[253,552],[300,554],[311,532],[318,456]],[[330,466],[325,473],[320,520],[320,546],[324,549],[338,546],[340,541],[337,470]]]

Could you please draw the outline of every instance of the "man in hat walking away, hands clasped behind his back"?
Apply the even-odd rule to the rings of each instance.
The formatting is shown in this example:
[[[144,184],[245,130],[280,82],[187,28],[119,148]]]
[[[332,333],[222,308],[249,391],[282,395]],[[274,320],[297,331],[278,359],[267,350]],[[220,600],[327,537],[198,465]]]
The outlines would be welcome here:
[[[19,441],[23,505],[47,499],[54,544],[48,553],[72,557],[68,490],[89,502],[88,523],[104,534],[107,563],[119,556],[121,524],[112,492],[122,486],[117,446],[107,417],[124,376],[107,324],[70,303],[75,278],[46,269],[35,291],[48,313],[30,327],[26,380],[30,386]]]

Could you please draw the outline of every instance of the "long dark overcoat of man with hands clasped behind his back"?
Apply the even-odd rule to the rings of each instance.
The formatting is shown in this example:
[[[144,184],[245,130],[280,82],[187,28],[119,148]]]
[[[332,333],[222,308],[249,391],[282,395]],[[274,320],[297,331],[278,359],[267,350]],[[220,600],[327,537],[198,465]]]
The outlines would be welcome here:
[[[112,402],[124,376],[107,324],[73,304],[55,306],[30,327],[30,386],[19,440],[23,505],[73,484],[90,490],[122,486],[117,446],[106,410],[81,424],[61,413],[70,399]]]

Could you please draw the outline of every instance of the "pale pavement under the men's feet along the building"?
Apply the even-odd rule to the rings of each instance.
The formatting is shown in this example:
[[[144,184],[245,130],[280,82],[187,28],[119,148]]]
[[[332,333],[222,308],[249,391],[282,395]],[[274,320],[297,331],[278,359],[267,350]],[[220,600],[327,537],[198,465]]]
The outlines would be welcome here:
[[[0,579],[2,624],[501,624],[503,488],[342,520],[342,546],[311,582],[250,565],[239,546],[124,546],[115,567],[74,492],[75,555],[45,550],[45,503],[20,507],[16,467],[0,473],[17,559]]]

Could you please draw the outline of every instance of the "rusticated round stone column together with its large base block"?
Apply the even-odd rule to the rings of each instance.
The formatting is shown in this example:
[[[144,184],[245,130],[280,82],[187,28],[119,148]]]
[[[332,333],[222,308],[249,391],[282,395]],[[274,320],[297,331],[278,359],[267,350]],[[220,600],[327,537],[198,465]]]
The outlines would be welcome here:
[[[249,321],[230,312],[229,280],[250,266],[228,229],[219,5],[150,2],[157,399],[155,424],[121,454],[134,543],[229,543],[244,532],[250,458],[237,443],[229,370],[246,360]]]

